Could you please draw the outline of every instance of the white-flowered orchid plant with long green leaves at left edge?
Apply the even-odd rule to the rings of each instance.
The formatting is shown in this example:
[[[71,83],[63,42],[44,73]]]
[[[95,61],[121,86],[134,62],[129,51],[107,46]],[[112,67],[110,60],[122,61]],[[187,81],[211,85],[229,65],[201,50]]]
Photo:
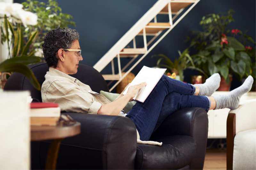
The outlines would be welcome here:
[[[4,29],[2,30],[5,33],[5,41],[8,44],[9,52],[8,59],[0,63],[0,72],[19,72],[25,75],[37,90],[40,90],[40,84],[33,72],[27,67],[28,64],[41,61],[40,58],[33,56],[33,53],[29,50],[29,46],[35,39],[38,31],[33,32],[24,45],[21,26],[22,24],[24,26],[36,25],[37,16],[32,12],[22,10],[22,7],[23,5],[17,3],[0,2],[0,18],[4,18]],[[9,19],[12,19],[16,26]]]

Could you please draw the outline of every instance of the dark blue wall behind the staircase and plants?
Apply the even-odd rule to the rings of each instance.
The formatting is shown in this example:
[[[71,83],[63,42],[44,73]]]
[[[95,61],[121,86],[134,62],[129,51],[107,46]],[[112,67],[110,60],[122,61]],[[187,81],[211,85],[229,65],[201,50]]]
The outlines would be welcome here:
[[[14,2],[21,3],[24,0],[14,0]],[[156,3],[156,0],[59,0],[58,3],[63,13],[74,17],[73,20],[76,22],[74,29],[81,36],[79,43],[83,49],[82,63],[93,66]],[[202,30],[199,22],[209,13],[235,10],[236,13],[233,16],[235,22],[231,24],[232,28],[241,31],[249,30],[247,34],[256,37],[255,7],[255,0],[201,0],[132,72],[137,74],[143,65],[156,66],[157,58],[151,58],[154,54],[162,53],[172,59],[178,57],[177,50],[182,51],[188,47],[188,42],[184,40],[190,35],[189,30]],[[168,22],[168,18],[164,16],[160,16],[158,21],[160,20]],[[140,45],[143,45],[142,40]],[[122,64],[128,61],[124,59]],[[110,72],[109,64],[101,73]],[[196,72],[185,71],[185,81],[190,82],[191,74]],[[235,79],[231,88],[238,85],[240,84]]]

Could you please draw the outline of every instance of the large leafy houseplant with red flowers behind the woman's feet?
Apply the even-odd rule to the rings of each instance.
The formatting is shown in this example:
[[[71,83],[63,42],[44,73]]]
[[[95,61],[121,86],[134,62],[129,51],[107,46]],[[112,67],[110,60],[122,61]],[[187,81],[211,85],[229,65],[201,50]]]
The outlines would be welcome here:
[[[238,29],[230,29],[229,23],[234,21],[234,12],[229,10],[227,15],[218,13],[204,16],[200,22],[203,31],[194,31],[195,38],[191,40],[192,46],[198,51],[191,56],[195,66],[208,76],[220,73],[227,84],[230,82],[228,75],[235,74],[241,79],[251,75],[252,67],[256,68],[252,64],[252,60],[255,60],[255,49],[246,46],[254,43],[252,37]],[[226,36],[228,34],[231,36]]]

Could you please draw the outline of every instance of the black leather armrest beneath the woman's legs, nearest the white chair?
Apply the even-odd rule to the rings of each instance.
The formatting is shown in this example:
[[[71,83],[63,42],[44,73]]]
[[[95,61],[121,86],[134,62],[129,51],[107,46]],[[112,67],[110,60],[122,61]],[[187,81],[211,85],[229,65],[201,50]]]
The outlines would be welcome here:
[[[196,155],[190,169],[202,169],[208,137],[208,115],[203,108],[193,107],[178,110],[169,115],[152,134],[155,137],[187,135],[196,140]]]

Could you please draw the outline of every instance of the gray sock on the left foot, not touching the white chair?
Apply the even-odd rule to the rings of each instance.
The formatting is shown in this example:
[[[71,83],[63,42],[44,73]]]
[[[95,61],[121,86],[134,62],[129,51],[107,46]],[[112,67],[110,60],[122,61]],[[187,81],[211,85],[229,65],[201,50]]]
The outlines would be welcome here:
[[[195,84],[194,86],[198,86],[200,89],[198,96],[211,96],[220,87],[220,74],[215,73],[207,78],[204,84]]]

